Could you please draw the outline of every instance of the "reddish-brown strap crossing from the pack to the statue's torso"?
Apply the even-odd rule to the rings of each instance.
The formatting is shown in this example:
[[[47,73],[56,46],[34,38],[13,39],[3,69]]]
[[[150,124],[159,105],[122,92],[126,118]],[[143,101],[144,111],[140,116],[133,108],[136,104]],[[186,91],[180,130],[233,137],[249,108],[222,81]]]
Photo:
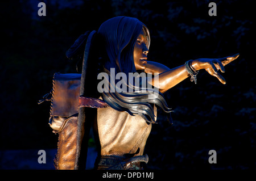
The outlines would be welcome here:
[[[79,97],[79,107],[104,108],[109,105],[101,99]]]

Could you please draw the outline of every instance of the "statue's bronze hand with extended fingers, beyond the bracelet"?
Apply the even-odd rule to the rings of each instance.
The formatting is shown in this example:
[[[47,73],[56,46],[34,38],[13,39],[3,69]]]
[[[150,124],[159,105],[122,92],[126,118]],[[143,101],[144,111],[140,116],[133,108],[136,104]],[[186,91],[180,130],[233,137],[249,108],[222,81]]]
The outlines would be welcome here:
[[[224,73],[224,66],[236,60],[238,56],[240,56],[240,54],[237,53],[224,58],[199,58],[192,62],[192,66],[195,70],[205,69],[210,75],[217,77],[221,83],[225,84],[226,81],[224,77],[218,73],[218,70]]]

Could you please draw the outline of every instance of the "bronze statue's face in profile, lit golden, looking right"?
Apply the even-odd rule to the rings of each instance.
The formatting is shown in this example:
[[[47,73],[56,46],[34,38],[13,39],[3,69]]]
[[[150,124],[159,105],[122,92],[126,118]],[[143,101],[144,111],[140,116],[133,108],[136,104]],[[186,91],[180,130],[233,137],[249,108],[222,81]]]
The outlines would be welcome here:
[[[133,58],[136,70],[144,70],[147,64],[147,36],[142,30],[134,45]]]

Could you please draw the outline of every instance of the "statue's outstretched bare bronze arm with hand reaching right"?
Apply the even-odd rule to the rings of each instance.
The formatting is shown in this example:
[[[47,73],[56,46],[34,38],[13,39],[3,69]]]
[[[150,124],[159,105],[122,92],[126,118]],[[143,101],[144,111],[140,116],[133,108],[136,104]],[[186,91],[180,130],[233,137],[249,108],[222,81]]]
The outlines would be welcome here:
[[[234,56],[224,57],[224,58],[199,58],[197,60],[193,60],[191,63],[191,66],[196,71],[205,69],[208,71],[210,75],[213,75],[214,77],[217,77],[218,80],[225,84],[225,79],[218,73],[218,70],[220,69],[222,72],[225,71],[224,66],[232,62],[233,60],[236,60],[236,58],[239,56],[239,54],[235,54]],[[148,66],[148,68],[147,68]],[[166,66],[162,64],[153,64],[150,62],[146,66],[145,72],[146,73],[159,73],[156,75],[155,78],[152,78],[152,80],[149,80],[148,83],[150,83],[153,86],[156,86],[159,88],[160,92],[165,92],[168,89],[171,89],[181,81],[183,81],[185,78],[189,77],[189,73],[187,69],[185,68],[185,65],[178,66],[174,69],[168,69]],[[155,82],[155,80],[158,80],[158,82]]]

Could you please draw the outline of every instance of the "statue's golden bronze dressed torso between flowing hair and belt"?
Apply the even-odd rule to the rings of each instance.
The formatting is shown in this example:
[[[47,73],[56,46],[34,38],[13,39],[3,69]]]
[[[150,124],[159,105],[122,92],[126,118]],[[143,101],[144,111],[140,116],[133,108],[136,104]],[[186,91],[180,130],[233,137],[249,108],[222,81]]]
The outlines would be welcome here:
[[[156,107],[154,107],[156,116]],[[133,154],[142,155],[151,124],[141,116],[131,116],[127,112],[116,111],[111,107],[97,110],[97,127],[101,144],[101,155]]]

